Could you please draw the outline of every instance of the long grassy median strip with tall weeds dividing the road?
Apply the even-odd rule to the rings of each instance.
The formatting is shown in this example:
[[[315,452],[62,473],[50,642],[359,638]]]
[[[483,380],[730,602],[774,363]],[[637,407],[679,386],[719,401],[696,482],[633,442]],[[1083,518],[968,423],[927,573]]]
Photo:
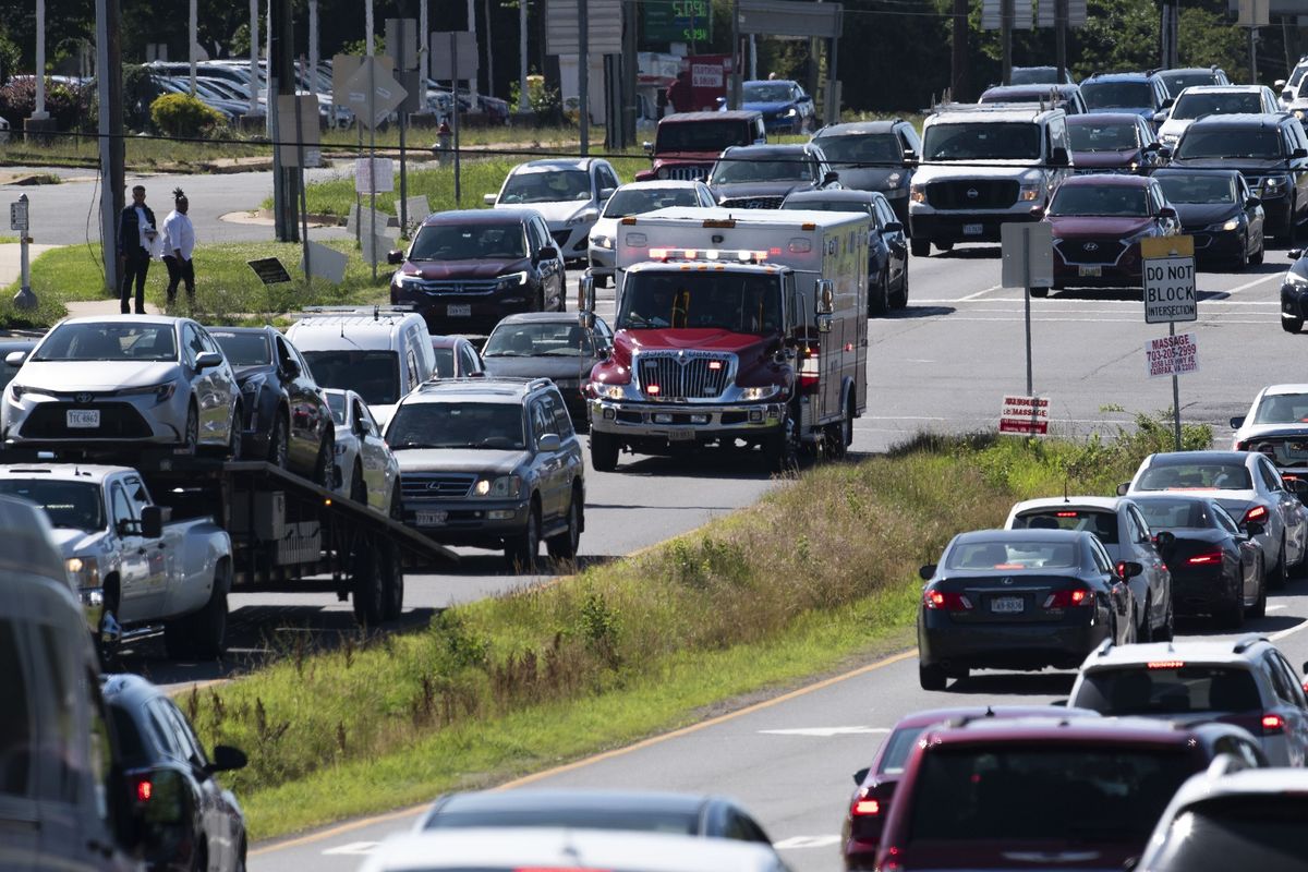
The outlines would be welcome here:
[[[1169,443],[1147,417],[1079,443],[922,437],[638,556],[424,631],[288,651],[179,703],[205,743],[250,752],[230,784],[255,838],[492,784],[910,647],[917,567],[954,533],[1065,485],[1112,493]]]

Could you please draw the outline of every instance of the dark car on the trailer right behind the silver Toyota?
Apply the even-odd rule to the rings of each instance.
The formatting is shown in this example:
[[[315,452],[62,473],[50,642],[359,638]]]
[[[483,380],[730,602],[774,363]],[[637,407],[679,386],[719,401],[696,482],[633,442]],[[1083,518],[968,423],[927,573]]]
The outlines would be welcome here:
[[[267,460],[326,488],[332,481],[336,425],[309,363],[272,327],[211,331],[241,386],[241,454]]]

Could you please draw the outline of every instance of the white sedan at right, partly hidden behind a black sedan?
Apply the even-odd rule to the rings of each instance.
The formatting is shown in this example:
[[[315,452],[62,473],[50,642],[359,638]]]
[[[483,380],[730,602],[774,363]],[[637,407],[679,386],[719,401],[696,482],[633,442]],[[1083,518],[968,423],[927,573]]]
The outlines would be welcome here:
[[[1250,451],[1176,451],[1151,454],[1118,493],[1196,493],[1222,503],[1240,524],[1257,522],[1256,536],[1271,587],[1283,587],[1290,570],[1308,558],[1308,510],[1262,454]]]

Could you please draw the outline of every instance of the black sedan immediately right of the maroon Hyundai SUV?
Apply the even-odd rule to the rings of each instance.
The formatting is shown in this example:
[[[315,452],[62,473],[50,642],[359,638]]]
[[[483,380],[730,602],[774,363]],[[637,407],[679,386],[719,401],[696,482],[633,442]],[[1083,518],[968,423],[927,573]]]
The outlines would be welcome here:
[[[1194,254],[1244,269],[1266,252],[1262,200],[1236,170],[1164,169],[1154,173],[1181,220],[1181,233],[1194,237]]]

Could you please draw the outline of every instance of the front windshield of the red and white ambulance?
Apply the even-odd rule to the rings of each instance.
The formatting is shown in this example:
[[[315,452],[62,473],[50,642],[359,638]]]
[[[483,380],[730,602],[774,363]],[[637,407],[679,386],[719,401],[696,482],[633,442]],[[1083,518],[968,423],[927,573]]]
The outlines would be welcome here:
[[[782,320],[781,278],[700,272],[628,273],[617,329],[725,329],[776,333]]]

